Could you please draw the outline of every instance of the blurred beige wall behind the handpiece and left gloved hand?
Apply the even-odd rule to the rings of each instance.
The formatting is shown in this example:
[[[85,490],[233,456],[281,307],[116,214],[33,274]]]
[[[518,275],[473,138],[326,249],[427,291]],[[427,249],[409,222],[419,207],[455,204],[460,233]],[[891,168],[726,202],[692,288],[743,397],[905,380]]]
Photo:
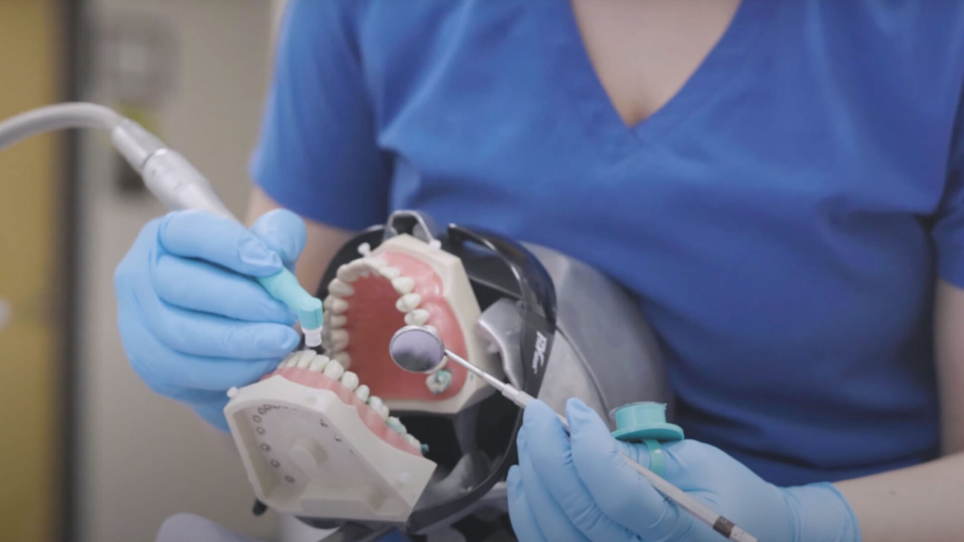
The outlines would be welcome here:
[[[161,137],[208,176],[241,212],[263,95],[275,7],[266,0],[89,0],[89,22],[156,15],[178,43],[176,86],[159,107]],[[96,48],[94,47],[94,51]],[[136,60],[136,59],[135,59]],[[134,61],[131,61],[134,62]],[[115,104],[94,74],[87,99]],[[80,337],[80,540],[149,541],[168,516],[188,511],[275,539],[277,518],[254,518],[253,493],[226,437],[186,407],[147,390],[128,366],[116,324],[114,268],[138,230],[165,211],[120,195],[102,137],[85,137]]]

